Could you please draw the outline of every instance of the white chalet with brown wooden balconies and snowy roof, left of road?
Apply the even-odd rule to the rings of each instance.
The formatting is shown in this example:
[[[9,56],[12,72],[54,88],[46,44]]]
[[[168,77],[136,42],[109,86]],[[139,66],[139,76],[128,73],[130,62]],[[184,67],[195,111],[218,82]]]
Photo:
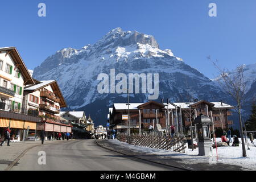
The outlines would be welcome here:
[[[59,117],[60,108],[67,105],[57,82],[34,81],[35,84],[26,85],[24,88],[24,105],[27,106],[28,113],[40,118],[36,129],[46,131],[49,138],[57,138],[57,133],[72,133],[72,126],[62,123]]]

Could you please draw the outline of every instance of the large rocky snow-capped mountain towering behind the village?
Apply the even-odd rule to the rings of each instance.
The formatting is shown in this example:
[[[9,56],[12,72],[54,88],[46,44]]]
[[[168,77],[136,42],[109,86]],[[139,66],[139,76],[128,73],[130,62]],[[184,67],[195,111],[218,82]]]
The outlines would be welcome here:
[[[34,69],[38,80],[57,80],[69,109],[85,110],[96,123],[105,123],[113,102],[126,102],[127,94],[100,94],[100,73],[159,73],[159,98],[171,101],[229,102],[230,98],[197,69],[176,57],[171,49],[160,49],[155,38],[137,31],[115,28],[93,45],[65,48],[49,56]],[[116,81],[117,83],[117,81]],[[144,102],[148,94],[131,94],[131,102]],[[232,103],[231,103],[232,104]]]

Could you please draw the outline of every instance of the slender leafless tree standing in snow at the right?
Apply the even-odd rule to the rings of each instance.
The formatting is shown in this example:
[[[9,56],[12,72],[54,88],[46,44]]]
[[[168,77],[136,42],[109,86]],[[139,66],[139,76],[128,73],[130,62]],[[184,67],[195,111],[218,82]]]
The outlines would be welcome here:
[[[241,133],[241,139],[242,139],[242,155],[243,157],[246,157],[246,150],[245,150],[245,141],[243,137],[243,125],[242,125],[242,117],[241,117],[241,109],[242,104],[245,99],[245,93],[246,93],[246,82],[243,77],[243,68],[244,65],[240,65],[236,68],[236,70],[230,74],[230,72],[226,71],[225,69],[222,69],[217,65],[217,60],[213,61],[210,56],[207,57],[209,61],[211,61],[214,65],[214,67],[218,70],[220,73],[220,79],[218,80],[219,84],[221,85],[222,89],[224,89],[224,92],[229,94],[233,98],[234,101],[237,103],[237,110],[239,115],[239,123],[240,123],[240,133]]]

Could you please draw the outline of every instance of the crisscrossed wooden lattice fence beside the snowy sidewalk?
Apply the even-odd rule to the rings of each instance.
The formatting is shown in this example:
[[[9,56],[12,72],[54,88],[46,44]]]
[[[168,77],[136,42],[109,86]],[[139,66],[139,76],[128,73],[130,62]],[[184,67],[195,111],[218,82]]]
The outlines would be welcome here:
[[[186,145],[184,143],[185,138],[179,137],[169,137],[162,135],[141,135],[131,134],[131,136],[125,134],[118,134],[117,139],[120,142],[125,142],[128,144],[133,144],[134,146],[150,147],[163,150],[170,150],[175,152],[185,153]]]

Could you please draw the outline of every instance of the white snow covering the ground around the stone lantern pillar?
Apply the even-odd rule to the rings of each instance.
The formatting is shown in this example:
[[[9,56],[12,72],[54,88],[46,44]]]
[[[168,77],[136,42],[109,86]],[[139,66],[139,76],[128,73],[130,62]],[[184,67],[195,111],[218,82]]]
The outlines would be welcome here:
[[[220,142],[221,138],[217,138],[217,142]],[[250,140],[248,139],[248,144],[250,147],[250,150],[247,150],[247,144],[246,144],[246,154],[247,157],[242,157],[242,144],[240,144],[239,147],[231,147],[232,144],[230,144],[230,147],[218,147],[218,160],[216,158],[216,148],[213,148],[213,154],[212,156],[198,156],[198,148],[195,148],[194,151],[190,148],[185,149],[185,154],[178,153],[178,152],[172,152],[167,150],[160,150],[155,148],[148,148],[148,147],[141,147],[141,146],[133,146],[124,142],[119,142],[117,139],[110,140],[110,143],[113,143],[115,145],[118,145],[120,147],[127,147],[131,150],[138,151],[138,152],[144,152],[146,154],[154,154],[159,155],[160,158],[175,158],[175,159],[181,159],[181,163],[187,163],[187,164],[197,164],[197,163],[209,163],[209,164],[218,164],[218,163],[224,163],[224,164],[230,164],[230,165],[236,165],[241,166],[245,170],[255,170],[256,169],[256,139],[254,140],[254,144],[250,143]],[[240,139],[241,143],[241,139]]]

